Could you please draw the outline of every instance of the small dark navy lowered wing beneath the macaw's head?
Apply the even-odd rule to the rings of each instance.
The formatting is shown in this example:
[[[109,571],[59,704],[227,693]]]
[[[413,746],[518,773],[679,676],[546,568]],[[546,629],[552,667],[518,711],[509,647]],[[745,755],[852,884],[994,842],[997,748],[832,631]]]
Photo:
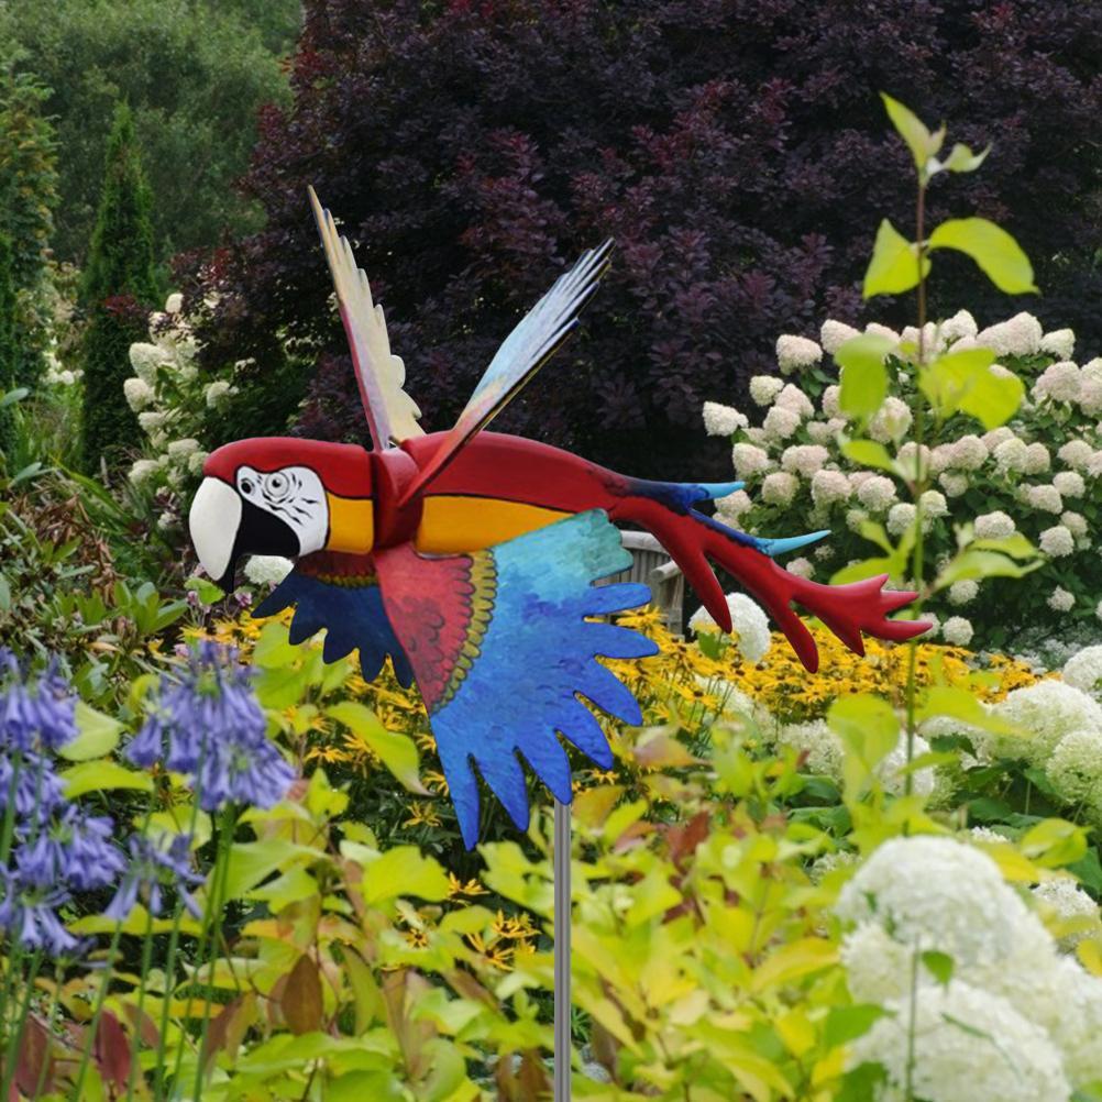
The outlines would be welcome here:
[[[274,616],[294,605],[290,640],[304,642],[325,628],[322,657],[335,662],[359,650],[365,681],[374,681],[390,656],[403,685],[413,671],[382,608],[379,580],[370,555],[318,551],[303,555],[294,570],[252,611]]]

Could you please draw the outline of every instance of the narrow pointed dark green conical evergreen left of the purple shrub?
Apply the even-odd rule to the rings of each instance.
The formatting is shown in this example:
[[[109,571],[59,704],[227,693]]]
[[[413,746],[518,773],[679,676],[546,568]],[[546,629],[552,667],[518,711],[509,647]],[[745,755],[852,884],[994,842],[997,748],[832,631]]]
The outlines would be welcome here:
[[[126,104],[115,110],[82,291],[89,324],[80,451],[85,469],[95,472],[101,457],[108,464],[117,462],[137,436],[122,381],[130,375],[130,345],[143,338],[156,299],[150,195]]]

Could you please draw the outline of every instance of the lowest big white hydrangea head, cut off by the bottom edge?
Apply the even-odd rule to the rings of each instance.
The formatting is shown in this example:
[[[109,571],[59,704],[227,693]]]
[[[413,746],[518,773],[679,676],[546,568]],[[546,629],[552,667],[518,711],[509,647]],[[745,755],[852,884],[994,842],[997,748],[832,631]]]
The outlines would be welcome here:
[[[1006,998],[960,980],[888,1000],[888,1014],[850,1046],[849,1063],[879,1063],[877,1102],[1068,1102],[1071,1085],[1048,1034]],[[1028,1012],[1027,1012],[1028,1013]],[[914,1028],[911,1028],[911,1025]],[[908,1070],[909,1069],[909,1070]]]

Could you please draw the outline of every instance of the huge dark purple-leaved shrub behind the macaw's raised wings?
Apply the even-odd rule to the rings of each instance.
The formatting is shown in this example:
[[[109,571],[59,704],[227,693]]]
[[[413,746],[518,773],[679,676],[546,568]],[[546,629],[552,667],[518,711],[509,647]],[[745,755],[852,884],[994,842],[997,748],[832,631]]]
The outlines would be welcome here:
[[[639,474],[725,469],[700,407],[737,401],[784,332],[862,316],[876,224],[911,218],[884,89],[995,149],[933,218],[1006,225],[1042,301],[942,262],[938,301],[1018,309],[1100,350],[1102,6],[1079,0],[307,0],[294,107],[245,181],[268,228],[219,258],[212,355],[318,369],[301,431],[363,435],[306,203],[354,239],[430,428],[587,246],[617,250],[585,327],[499,426]],[[903,321],[895,304],[871,316]],[[909,309],[909,305],[906,307]],[[291,401],[296,400],[293,392]],[[289,412],[290,407],[283,412]]]

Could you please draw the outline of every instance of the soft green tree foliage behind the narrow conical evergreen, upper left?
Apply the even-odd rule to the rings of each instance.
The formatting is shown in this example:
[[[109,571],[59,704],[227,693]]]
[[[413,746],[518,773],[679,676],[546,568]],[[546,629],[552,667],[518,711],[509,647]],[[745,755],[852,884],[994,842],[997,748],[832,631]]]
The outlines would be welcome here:
[[[61,147],[53,247],[83,261],[111,112],[128,101],[150,181],[159,263],[258,226],[234,188],[261,105],[285,98],[279,57],[298,29],[295,0],[12,0],[0,41],[51,89]]]

